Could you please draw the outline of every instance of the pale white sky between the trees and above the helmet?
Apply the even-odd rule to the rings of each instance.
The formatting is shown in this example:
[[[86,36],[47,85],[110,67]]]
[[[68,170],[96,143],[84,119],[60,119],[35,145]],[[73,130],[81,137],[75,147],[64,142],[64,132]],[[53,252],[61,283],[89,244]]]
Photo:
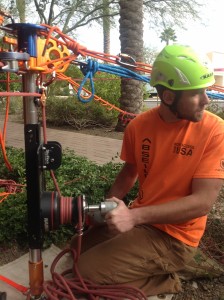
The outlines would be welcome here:
[[[224,53],[224,0],[208,0],[208,4],[200,12],[202,21],[189,21],[185,26],[187,30],[177,30],[177,42],[189,45],[202,53],[222,52]],[[201,24],[203,22],[204,24]],[[94,26],[91,28],[80,28],[77,31],[77,42],[86,46],[90,50],[103,52],[102,29]],[[161,43],[161,30],[148,30],[144,24],[144,44],[153,46],[161,50],[165,43]],[[120,52],[119,29],[111,32],[111,51],[112,55]]]

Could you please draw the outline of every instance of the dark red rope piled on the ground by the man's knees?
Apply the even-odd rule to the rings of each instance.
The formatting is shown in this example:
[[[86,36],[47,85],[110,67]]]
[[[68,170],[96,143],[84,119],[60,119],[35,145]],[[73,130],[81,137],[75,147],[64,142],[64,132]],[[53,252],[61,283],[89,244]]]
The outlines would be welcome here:
[[[66,254],[70,253],[73,258],[73,267],[59,274],[55,271],[57,263]],[[74,249],[65,249],[55,258],[51,266],[52,280],[43,285],[44,292],[49,300],[79,299],[80,296],[88,296],[88,299],[130,299],[146,300],[145,294],[137,288],[129,285],[97,285],[90,280],[85,280],[77,267],[77,252]],[[72,277],[71,277],[72,275]]]

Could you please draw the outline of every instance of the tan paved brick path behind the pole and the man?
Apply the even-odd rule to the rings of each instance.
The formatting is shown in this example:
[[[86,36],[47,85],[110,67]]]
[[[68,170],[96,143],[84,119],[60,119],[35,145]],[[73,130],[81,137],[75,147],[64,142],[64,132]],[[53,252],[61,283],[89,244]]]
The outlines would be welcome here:
[[[0,129],[3,129],[3,120],[0,120]],[[121,140],[101,136],[93,136],[74,131],[47,128],[47,140],[57,141],[63,149],[69,148],[79,156],[84,156],[99,165],[112,160],[121,162],[119,155]],[[24,125],[21,123],[7,123],[6,145],[24,149]]]

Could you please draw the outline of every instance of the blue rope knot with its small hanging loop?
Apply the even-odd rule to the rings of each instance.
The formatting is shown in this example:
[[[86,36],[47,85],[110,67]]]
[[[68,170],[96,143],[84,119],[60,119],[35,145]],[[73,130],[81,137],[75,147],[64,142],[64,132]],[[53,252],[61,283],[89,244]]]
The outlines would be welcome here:
[[[93,76],[99,70],[99,64],[98,64],[97,61],[88,59],[87,63],[81,63],[80,64],[80,70],[85,75],[85,77],[84,77],[83,81],[81,82],[81,84],[79,86],[77,95],[78,95],[78,99],[81,102],[87,103],[87,102],[90,102],[94,98],[95,88],[94,88],[94,83],[93,83]],[[83,96],[82,95],[83,86],[86,83],[87,79],[90,80],[91,94],[87,93],[88,96]]]

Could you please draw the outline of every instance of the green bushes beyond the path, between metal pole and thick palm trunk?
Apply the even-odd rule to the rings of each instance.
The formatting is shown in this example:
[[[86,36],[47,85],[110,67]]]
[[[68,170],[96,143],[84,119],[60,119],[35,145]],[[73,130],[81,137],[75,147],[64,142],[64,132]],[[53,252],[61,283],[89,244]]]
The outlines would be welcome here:
[[[67,76],[82,81],[84,75],[79,68],[70,66]],[[96,80],[95,80],[96,79]],[[89,82],[84,85],[91,90]],[[119,106],[120,79],[114,75],[99,73],[94,77],[95,95]],[[71,87],[70,87],[71,88]],[[53,126],[72,126],[79,130],[90,127],[111,127],[117,121],[118,113],[94,100],[82,103],[76,93],[72,93],[66,81],[56,81],[49,86],[46,102],[47,122]]]

